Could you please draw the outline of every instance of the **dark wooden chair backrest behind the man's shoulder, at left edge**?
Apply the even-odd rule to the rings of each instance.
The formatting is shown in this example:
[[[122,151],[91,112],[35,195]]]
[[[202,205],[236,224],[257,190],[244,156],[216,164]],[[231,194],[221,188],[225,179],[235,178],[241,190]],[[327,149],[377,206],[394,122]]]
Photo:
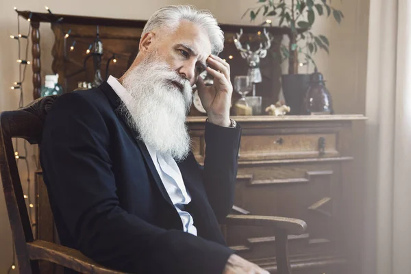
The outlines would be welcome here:
[[[38,262],[30,261],[27,255],[26,243],[32,242],[34,238],[18,174],[12,138],[23,138],[32,145],[39,144],[47,112],[57,98],[58,95],[42,97],[25,108],[0,114],[1,181],[12,227],[16,257],[22,273],[38,273]]]

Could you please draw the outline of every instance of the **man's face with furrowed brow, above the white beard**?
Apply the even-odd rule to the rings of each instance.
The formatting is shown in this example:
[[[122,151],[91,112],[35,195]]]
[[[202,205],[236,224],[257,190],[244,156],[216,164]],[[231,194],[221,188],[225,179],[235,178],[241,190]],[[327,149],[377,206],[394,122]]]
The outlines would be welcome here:
[[[161,35],[161,39],[153,45],[160,58],[193,86],[206,70],[206,60],[211,54],[206,31],[194,23],[182,21],[175,32]]]

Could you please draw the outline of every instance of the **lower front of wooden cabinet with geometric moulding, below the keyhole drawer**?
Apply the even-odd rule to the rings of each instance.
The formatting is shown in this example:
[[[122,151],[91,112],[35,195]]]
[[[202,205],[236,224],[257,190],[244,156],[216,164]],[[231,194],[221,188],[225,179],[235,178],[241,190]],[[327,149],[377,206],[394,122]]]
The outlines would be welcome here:
[[[234,205],[249,214],[306,221],[305,237],[292,240],[292,254],[332,251],[336,225],[333,220],[339,214],[339,177],[339,164],[333,162],[242,166],[238,170]],[[227,235],[232,245],[249,247],[252,258],[261,258],[273,244],[273,232],[265,227],[233,227]]]

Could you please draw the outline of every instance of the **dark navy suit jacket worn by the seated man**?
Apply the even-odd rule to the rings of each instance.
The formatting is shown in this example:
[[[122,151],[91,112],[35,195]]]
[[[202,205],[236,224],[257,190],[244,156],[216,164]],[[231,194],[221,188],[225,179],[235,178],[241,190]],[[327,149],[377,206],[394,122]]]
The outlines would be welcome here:
[[[232,208],[240,128],[206,123],[206,159],[177,163],[198,236],[182,221],[109,84],[62,95],[40,161],[62,245],[129,273],[221,273],[233,251],[219,229]]]

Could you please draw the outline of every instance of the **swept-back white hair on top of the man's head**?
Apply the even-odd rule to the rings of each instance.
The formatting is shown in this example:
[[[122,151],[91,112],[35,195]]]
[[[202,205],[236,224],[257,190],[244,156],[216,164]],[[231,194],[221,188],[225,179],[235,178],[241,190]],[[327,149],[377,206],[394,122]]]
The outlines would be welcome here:
[[[218,55],[224,48],[224,34],[216,18],[208,10],[197,10],[191,5],[168,5],[156,11],[147,21],[141,36],[153,29],[177,29],[180,21],[186,20],[205,29],[210,39],[212,54]]]

